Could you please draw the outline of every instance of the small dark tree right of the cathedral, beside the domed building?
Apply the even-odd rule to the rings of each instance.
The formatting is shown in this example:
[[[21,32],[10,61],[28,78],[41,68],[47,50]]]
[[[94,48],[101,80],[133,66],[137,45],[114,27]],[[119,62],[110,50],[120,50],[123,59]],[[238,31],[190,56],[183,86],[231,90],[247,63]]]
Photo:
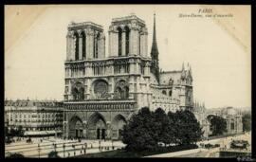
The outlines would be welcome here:
[[[210,115],[207,117],[210,121],[210,131],[212,131],[212,136],[223,135],[227,132],[227,121],[223,117]]]

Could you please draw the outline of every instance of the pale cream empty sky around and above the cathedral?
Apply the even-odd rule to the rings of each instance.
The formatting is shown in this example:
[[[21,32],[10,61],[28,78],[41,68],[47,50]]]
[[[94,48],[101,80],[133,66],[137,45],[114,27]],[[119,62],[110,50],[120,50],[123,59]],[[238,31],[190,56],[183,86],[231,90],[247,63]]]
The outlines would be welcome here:
[[[46,9],[29,7],[28,12],[12,8],[5,8],[6,99],[64,99],[65,36],[71,21],[101,25],[108,56],[108,27],[112,18],[135,13],[148,27],[150,53],[155,12],[160,68],[180,70],[182,63],[190,63],[193,99],[205,102],[207,108],[250,107],[250,22],[246,21],[250,20],[250,9],[247,7],[229,7],[229,11],[214,7],[216,13],[233,13],[231,18],[214,20],[179,17],[180,13],[198,13],[198,9],[205,8],[202,6],[65,5]],[[237,20],[239,23],[232,24]]]

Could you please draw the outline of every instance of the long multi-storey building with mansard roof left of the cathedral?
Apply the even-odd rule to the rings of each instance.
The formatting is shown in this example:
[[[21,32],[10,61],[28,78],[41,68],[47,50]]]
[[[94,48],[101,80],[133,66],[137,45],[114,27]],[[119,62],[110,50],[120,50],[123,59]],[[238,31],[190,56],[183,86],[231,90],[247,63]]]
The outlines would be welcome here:
[[[22,127],[25,135],[62,135],[63,102],[46,100],[5,100],[8,129]]]

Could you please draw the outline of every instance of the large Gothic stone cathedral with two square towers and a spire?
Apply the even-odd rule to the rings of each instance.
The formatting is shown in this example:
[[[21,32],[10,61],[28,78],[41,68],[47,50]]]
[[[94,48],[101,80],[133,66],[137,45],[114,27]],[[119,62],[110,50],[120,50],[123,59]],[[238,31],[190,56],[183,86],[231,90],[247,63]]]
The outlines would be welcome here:
[[[108,55],[101,25],[67,27],[64,62],[64,137],[119,139],[122,126],[142,107],[192,110],[192,69],[160,71],[154,15],[153,44],[135,14],[112,19]]]

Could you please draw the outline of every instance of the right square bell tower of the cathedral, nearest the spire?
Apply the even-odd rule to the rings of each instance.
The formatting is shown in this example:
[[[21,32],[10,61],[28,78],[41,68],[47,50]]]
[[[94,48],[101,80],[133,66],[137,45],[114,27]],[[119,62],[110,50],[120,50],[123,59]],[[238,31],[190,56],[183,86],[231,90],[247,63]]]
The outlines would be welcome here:
[[[147,57],[148,29],[135,14],[112,19],[108,32],[109,57]]]

